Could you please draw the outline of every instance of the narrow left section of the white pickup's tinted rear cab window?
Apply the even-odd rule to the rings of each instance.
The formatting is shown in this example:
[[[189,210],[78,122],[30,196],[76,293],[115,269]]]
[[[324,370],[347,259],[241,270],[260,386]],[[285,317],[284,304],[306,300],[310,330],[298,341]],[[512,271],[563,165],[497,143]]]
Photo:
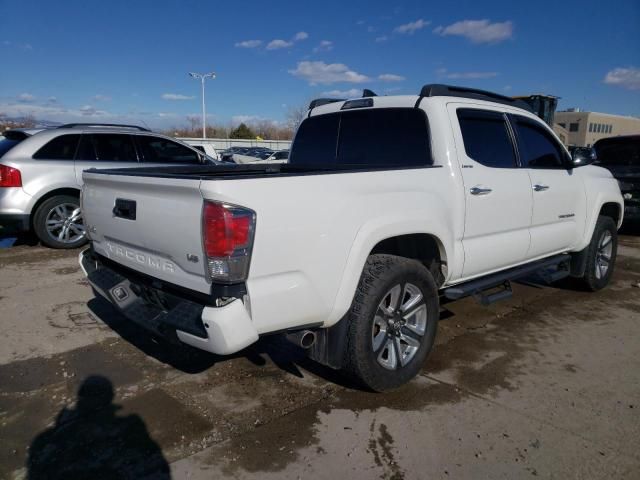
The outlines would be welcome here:
[[[298,128],[289,163],[318,165],[335,163],[340,114],[332,113],[305,119]]]

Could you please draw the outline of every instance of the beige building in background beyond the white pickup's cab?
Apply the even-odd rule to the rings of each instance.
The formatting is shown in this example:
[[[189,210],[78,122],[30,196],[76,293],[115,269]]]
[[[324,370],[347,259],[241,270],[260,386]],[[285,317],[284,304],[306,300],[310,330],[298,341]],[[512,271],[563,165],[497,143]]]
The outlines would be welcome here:
[[[608,113],[556,112],[554,122],[567,132],[565,145],[578,147],[590,147],[601,138],[640,134],[640,118]]]

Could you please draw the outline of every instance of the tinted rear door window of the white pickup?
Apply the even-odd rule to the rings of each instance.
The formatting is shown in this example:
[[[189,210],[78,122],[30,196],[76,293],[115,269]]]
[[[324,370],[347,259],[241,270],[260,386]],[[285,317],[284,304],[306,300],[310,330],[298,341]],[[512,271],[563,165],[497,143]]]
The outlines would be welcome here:
[[[509,127],[503,114],[465,108],[458,110],[458,121],[468,157],[485,167],[517,166]]]

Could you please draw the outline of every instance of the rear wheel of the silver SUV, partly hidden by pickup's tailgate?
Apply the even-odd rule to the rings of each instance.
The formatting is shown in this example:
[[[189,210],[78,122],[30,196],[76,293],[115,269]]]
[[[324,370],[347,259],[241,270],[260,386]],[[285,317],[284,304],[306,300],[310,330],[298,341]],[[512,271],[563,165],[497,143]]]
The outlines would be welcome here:
[[[80,201],[71,195],[56,195],[42,202],[33,228],[40,241],[51,248],[76,248],[87,243]]]

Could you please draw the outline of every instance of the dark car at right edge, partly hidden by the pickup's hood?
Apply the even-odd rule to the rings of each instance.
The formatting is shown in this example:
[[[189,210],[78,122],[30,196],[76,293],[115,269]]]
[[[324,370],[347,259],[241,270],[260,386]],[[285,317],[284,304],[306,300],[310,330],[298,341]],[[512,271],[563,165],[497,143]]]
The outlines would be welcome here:
[[[624,219],[640,220],[640,135],[603,138],[593,148],[596,165],[609,169],[620,184]]]

